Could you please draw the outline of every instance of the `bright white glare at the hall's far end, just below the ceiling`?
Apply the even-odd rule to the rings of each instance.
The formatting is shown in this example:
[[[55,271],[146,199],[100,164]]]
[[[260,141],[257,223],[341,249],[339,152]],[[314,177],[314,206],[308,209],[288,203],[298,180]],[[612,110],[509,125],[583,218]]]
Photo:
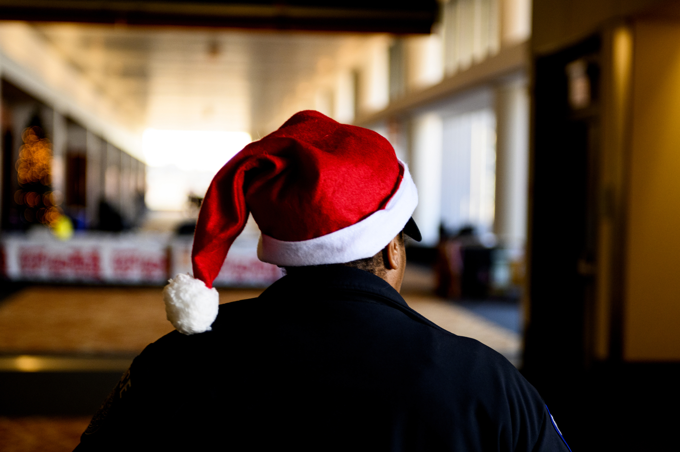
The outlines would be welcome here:
[[[147,129],[142,150],[149,166],[216,173],[250,141],[247,132]]]

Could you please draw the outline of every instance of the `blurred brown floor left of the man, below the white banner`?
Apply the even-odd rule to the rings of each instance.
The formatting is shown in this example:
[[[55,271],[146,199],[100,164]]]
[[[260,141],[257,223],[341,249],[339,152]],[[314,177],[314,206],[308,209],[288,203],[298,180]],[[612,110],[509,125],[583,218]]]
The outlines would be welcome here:
[[[220,303],[262,290],[222,290]],[[160,288],[32,286],[0,304],[0,353],[138,354],[173,331]]]

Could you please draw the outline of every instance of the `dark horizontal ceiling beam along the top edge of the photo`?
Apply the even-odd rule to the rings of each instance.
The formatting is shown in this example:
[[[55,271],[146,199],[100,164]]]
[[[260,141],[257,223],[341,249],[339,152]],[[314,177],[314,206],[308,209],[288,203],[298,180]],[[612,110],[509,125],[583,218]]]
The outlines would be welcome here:
[[[0,0],[0,20],[430,33],[437,1]]]

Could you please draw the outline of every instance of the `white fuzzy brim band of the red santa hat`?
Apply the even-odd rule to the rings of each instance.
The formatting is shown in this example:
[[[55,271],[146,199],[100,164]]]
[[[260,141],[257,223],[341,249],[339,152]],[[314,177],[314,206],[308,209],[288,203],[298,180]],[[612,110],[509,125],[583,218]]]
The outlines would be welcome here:
[[[399,163],[404,168],[404,176],[384,209],[354,225],[309,240],[284,242],[262,234],[257,250],[260,261],[282,267],[304,267],[374,256],[404,228],[418,205],[418,189],[409,168],[401,160]]]

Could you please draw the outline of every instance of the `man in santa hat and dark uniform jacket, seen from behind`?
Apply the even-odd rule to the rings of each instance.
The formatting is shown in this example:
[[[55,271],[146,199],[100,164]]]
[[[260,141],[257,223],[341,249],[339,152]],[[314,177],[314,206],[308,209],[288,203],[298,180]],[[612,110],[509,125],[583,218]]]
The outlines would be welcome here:
[[[296,113],[215,176],[194,277],[164,290],[177,331],[135,358],[76,451],[568,451],[503,356],[399,295],[418,194],[371,130]],[[287,275],[218,306],[211,284],[249,213]]]

